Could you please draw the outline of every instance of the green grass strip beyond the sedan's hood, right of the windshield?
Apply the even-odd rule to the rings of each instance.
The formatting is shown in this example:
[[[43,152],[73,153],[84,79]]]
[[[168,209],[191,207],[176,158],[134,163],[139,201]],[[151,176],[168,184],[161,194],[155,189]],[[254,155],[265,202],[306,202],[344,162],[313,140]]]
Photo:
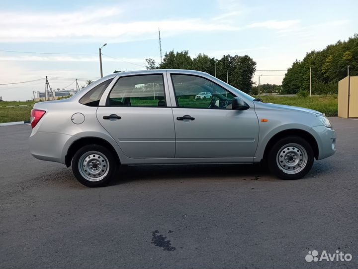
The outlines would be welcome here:
[[[306,98],[285,96],[260,96],[264,102],[317,110],[327,117],[338,115],[338,95],[318,95]]]

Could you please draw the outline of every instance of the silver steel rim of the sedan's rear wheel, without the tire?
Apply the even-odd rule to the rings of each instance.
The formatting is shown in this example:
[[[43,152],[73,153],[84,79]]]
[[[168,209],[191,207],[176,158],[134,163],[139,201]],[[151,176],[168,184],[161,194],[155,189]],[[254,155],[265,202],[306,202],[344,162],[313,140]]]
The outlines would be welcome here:
[[[81,175],[92,182],[102,180],[109,171],[106,156],[98,151],[88,151],[79,160],[78,168]]]

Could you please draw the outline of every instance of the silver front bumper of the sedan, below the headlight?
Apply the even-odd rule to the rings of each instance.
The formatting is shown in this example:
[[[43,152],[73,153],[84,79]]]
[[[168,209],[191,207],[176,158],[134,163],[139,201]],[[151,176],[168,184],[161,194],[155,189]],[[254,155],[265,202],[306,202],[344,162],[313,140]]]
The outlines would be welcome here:
[[[325,126],[311,128],[318,144],[318,160],[327,158],[336,153],[336,131]]]

